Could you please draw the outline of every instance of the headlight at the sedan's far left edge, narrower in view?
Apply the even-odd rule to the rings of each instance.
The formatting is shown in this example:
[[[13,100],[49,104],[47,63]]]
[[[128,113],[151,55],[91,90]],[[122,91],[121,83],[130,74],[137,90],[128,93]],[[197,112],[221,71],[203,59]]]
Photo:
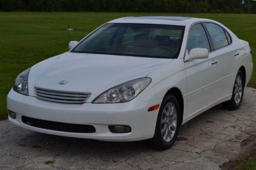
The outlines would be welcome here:
[[[15,84],[13,86],[14,91],[20,94],[29,95],[29,91],[28,91],[29,70],[30,68],[26,69],[25,71],[23,71],[21,74],[18,75],[18,77],[15,80]]]

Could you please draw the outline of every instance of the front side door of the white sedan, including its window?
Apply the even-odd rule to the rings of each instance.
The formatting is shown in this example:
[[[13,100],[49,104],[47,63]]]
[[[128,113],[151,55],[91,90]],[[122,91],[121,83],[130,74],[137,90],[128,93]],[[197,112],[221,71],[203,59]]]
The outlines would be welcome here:
[[[221,78],[217,74],[219,69],[217,52],[212,51],[209,38],[202,23],[196,23],[190,28],[186,55],[189,55],[193,48],[207,48],[209,57],[185,61],[187,118],[201,113],[205,108],[218,100],[216,83]]]

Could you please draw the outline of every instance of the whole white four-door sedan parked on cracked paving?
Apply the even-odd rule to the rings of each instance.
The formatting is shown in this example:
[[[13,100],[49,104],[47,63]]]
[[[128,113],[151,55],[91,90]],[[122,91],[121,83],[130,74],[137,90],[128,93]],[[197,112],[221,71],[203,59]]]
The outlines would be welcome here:
[[[248,42],[209,19],[119,18],[69,48],[17,77],[13,125],[167,149],[207,109],[238,109],[253,68]]]

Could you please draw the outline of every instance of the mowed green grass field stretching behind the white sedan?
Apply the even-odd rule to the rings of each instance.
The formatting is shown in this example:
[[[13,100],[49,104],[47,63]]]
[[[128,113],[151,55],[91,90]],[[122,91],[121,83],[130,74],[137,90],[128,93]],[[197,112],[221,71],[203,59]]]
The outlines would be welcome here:
[[[146,15],[217,20],[240,39],[248,41],[256,54],[256,15],[250,14],[0,12],[0,118],[7,117],[6,97],[20,72],[39,61],[68,51],[69,41],[80,40],[104,22],[124,16]],[[74,31],[67,31],[68,26]],[[255,57],[253,62],[256,62]],[[249,86],[256,87],[256,69]]]

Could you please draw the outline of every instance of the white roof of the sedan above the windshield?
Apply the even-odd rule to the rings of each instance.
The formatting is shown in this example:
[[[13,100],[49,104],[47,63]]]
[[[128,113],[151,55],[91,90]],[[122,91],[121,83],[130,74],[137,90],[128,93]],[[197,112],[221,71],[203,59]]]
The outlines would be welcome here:
[[[108,23],[154,23],[163,25],[187,26],[199,21],[212,20],[184,16],[131,16],[114,19]]]

